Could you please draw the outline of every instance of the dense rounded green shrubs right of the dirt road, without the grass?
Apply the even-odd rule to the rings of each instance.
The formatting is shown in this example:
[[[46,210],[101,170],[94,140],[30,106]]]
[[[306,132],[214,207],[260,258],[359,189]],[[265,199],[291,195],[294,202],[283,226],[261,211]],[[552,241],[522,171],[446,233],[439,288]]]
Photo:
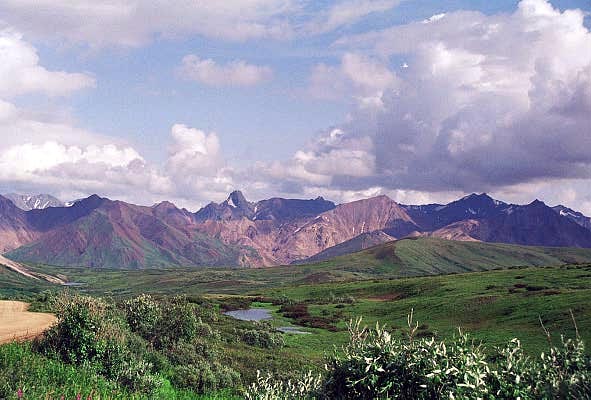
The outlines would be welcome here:
[[[109,303],[63,294],[52,307],[59,321],[35,349],[63,365],[88,368],[129,393],[175,398],[177,390],[187,390],[194,397],[241,384],[240,374],[221,362],[223,341],[240,339],[222,341],[221,333],[204,322],[203,318],[218,320],[205,302],[140,295]],[[279,339],[266,337],[269,330],[266,327],[259,336],[271,346]],[[256,332],[253,329],[253,335]],[[8,391],[13,389],[14,385]]]

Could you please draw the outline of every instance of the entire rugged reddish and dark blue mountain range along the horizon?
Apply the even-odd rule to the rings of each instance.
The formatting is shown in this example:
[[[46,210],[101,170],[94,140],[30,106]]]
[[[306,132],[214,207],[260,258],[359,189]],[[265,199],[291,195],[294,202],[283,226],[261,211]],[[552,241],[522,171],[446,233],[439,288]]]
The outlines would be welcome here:
[[[536,200],[507,204],[472,194],[449,204],[404,205],[377,196],[336,205],[239,191],[192,213],[97,195],[66,204],[0,196],[0,253],[59,266],[261,267],[306,263],[405,237],[591,248],[591,219]]]

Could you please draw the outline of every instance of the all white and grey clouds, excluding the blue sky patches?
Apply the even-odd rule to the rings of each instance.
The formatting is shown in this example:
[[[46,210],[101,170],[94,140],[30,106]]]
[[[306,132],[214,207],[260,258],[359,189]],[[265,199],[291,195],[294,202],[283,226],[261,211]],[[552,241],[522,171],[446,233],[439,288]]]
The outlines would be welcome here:
[[[3,15],[25,31],[55,28],[99,46],[139,46],[164,34],[243,40],[322,33],[322,24],[335,30],[397,4],[350,0],[295,26],[287,16],[303,6],[288,0],[252,0],[244,9],[247,3],[237,1],[198,9],[186,2],[58,1],[51,2],[59,11],[52,21],[49,3],[35,3],[33,10],[32,2],[5,1],[0,12],[9,11]],[[577,189],[591,183],[591,33],[584,18],[580,10],[522,0],[512,13],[455,11],[341,37],[332,46],[338,60],[313,66],[306,92],[350,99],[355,107],[346,120],[288,160],[240,168],[225,159],[218,134],[199,127],[173,124],[166,160],[154,164],[128,143],[31,117],[14,98],[65,96],[96,82],[83,72],[50,71],[20,34],[2,30],[0,181],[187,205],[233,188],[253,197],[322,194],[337,201],[379,193],[404,202],[473,191],[554,193],[590,212],[591,198]],[[179,71],[212,86],[256,85],[273,74],[197,55],[186,56]]]

